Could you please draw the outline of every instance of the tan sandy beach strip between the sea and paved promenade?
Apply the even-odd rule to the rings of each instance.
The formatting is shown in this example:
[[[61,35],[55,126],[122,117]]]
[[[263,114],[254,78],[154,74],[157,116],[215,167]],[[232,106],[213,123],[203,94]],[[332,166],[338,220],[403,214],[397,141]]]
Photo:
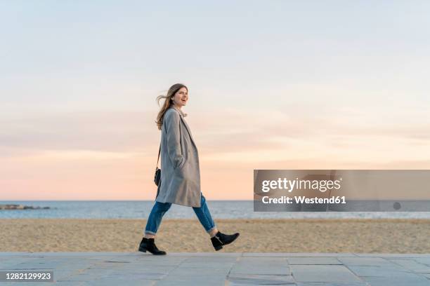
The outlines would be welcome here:
[[[221,252],[430,253],[429,219],[215,219],[240,238]],[[0,252],[133,252],[145,219],[0,219]],[[164,219],[167,252],[214,252],[197,219]]]

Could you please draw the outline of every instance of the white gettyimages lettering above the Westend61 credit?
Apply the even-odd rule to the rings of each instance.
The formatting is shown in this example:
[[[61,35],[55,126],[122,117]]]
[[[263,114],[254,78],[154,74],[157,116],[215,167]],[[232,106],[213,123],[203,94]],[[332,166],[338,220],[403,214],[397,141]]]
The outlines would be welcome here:
[[[294,191],[295,189],[299,190],[318,190],[321,193],[325,193],[327,190],[331,191],[332,189],[339,190],[341,189],[341,181],[342,178],[336,180],[316,180],[316,179],[287,179],[287,178],[278,178],[278,180],[263,180],[261,182],[261,191],[268,192],[273,189],[285,189],[289,193]]]

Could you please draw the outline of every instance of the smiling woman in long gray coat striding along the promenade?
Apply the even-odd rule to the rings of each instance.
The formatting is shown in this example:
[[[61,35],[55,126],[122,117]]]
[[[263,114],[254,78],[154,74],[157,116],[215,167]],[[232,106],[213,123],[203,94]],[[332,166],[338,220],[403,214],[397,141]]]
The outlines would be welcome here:
[[[190,128],[185,122],[182,107],[188,102],[188,88],[176,83],[157,100],[164,98],[164,104],[157,116],[161,136],[161,182],[155,205],[152,207],[145,227],[145,236],[139,245],[139,251],[152,254],[166,254],[155,245],[155,235],[162,222],[163,215],[171,204],[193,207],[204,230],[209,233],[215,250],[233,243],[239,233],[231,235],[221,233],[211,217],[202,191],[200,190],[200,165],[197,147]]]

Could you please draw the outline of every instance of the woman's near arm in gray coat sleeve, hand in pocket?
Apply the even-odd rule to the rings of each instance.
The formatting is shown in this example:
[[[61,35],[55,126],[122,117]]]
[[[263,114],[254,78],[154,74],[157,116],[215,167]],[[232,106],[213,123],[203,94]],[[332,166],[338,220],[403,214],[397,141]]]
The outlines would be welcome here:
[[[178,112],[171,111],[164,114],[164,121],[166,123],[167,153],[176,169],[185,160],[182,155],[181,130],[179,129],[181,128],[181,118],[179,118]]]

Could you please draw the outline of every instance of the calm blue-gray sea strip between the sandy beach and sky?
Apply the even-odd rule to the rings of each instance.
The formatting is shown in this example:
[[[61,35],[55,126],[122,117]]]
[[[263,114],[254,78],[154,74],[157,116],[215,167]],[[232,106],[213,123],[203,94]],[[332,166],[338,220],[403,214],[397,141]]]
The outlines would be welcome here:
[[[8,200],[50,207],[39,210],[0,210],[0,219],[148,219],[154,200]],[[254,212],[253,200],[207,200],[214,219],[430,219],[430,212]],[[193,207],[172,204],[164,219],[196,218]]]

